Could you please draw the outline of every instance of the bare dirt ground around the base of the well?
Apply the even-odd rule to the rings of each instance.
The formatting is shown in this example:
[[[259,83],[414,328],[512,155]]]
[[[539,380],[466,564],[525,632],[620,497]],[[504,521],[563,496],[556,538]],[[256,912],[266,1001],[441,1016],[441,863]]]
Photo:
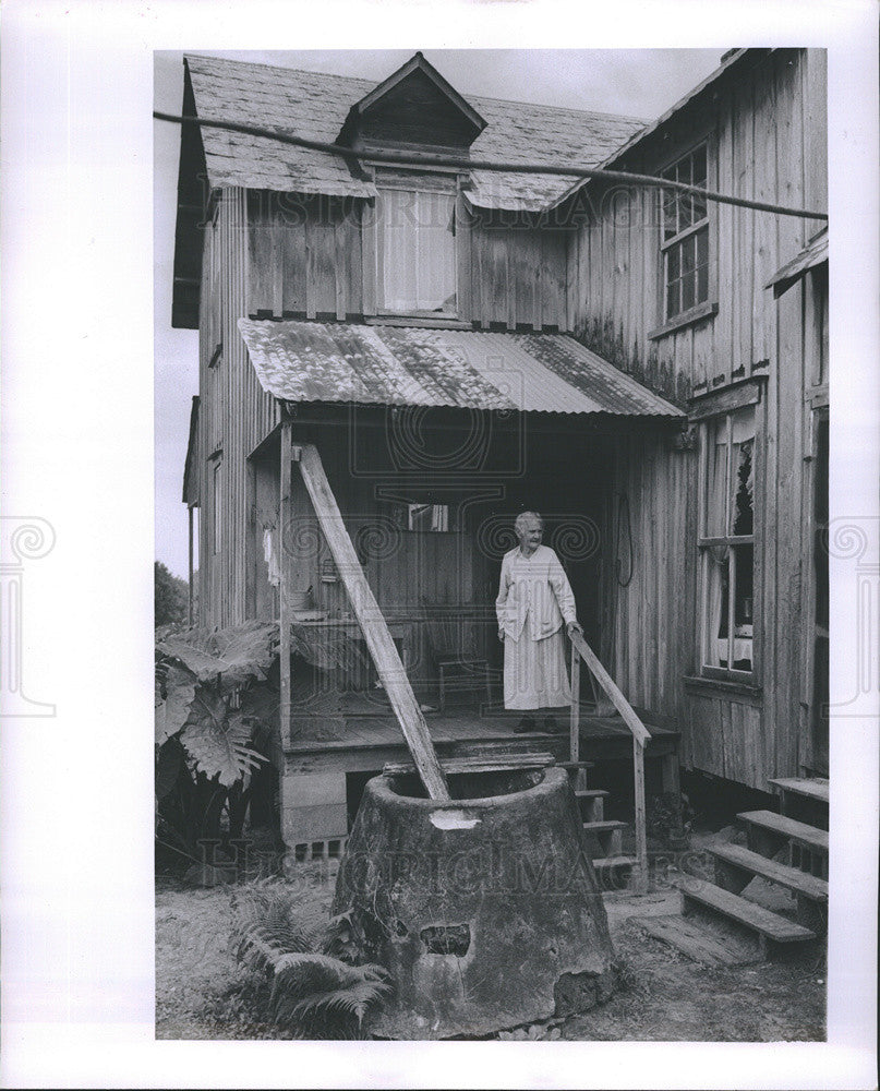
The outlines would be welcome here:
[[[334,877],[304,865],[296,889],[306,912],[326,919]],[[184,888],[165,882],[156,899],[156,1036],[290,1038],[255,1021],[253,985],[230,946],[234,887]],[[240,888],[239,888],[240,889]],[[291,890],[294,885],[291,884]],[[823,1041],[824,951],[813,946],[784,961],[709,969],[644,933],[634,916],[666,914],[678,895],[605,896],[620,981],[612,999],[564,1022],[503,1033],[504,1039],[576,1041]]]

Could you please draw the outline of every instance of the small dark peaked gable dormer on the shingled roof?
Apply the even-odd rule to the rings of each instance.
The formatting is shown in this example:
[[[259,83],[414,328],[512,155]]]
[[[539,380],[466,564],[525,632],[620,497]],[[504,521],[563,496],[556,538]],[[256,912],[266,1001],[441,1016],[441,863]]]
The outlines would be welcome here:
[[[467,153],[485,129],[474,108],[421,52],[377,84],[348,112],[338,144]]]

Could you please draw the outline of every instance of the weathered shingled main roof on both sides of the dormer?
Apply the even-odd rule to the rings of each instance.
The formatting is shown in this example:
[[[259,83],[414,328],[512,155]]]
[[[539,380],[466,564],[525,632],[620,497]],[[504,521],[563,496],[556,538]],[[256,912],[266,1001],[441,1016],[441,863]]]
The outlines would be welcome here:
[[[333,143],[353,104],[375,86],[372,80],[303,72],[216,57],[185,58],[203,118],[287,130]],[[475,159],[558,163],[592,167],[607,159],[644,122],[636,118],[510,103],[468,95],[487,122],[471,145]],[[372,196],[372,182],[353,177],[345,159],[261,136],[203,129],[213,188]],[[474,170],[470,202],[484,208],[540,211],[571,187],[570,175],[516,175]]]

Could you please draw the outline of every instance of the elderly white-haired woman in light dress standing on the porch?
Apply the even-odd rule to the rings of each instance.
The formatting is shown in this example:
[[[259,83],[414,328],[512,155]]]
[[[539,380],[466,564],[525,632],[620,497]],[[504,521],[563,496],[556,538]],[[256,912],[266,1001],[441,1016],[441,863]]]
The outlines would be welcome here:
[[[565,669],[563,622],[570,636],[582,633],[575,613],[575,596],[559,559],[541,544],[544,523],[537,512],[522,512],[514,524],[519,546],[502,561],[501,587],[495,601],[498,638],[504,642],[504,707],[535,710],[558,708],[571,702]],[[533,717],[525,716],[517,731],[534,731]],[[557,728],[552,716],[546,731]]]

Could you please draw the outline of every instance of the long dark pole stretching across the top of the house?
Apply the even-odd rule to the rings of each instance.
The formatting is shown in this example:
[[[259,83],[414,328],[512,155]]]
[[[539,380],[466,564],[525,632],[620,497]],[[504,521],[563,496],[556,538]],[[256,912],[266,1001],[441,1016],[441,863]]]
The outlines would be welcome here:
[[[327,144],[324,141],[308,140],[305,136],[293,136],[281,129],[266,129],[262,125],[246,125],[239,121],[222,121],[217,118],[195,118],[188,115],[162,113],[154,110],[157,121],[171,121],[174,124],[197,124],[205,129],[224,129],[227,132],[244,133],[249,136],[263,136],[266,140],[290,144],[293,147],[305,147],[312,152],[326,152],[341,158],[362,157],[371,163],[396,164],[406,167],[451,167],[457,170],[495,170],[503,173],[523,175],[571,175],[574,178],[604,178],[606,181],[625,182],[628,185],[646,185],[660,190],[672,190],[676,193],[692,193],[703,201],[716,204],[734,205],[737,208],[754,208],[756,212],[772,212],[779,216],[796,216],[800,219],[828,220],[828,213],[809,212],[806,208],[791,208],[786,205],[770,204],[766,201],[751,201],[748,197],[735,197],[727,193],[714,193],[699,185],[688,185],[686,182],[673,182],[668,178],[655,175],[634,175],[627,170],[604,170],[600,167],[576,167],[570,163],[498,163],[494,159],[470,159],[454,155],[435,155],[431,152],[388,152],[359,151],[357,147],[342,147],[339,144]]]

